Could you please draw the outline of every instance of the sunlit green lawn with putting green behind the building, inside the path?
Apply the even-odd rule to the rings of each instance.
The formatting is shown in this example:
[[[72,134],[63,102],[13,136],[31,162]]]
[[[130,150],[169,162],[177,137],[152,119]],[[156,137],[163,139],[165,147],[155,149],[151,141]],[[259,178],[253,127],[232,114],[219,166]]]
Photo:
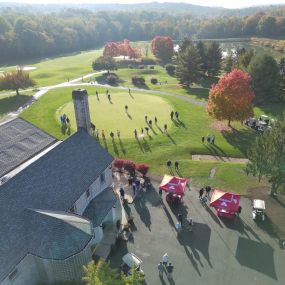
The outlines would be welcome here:
[[[96,87],[100,97],[105,95],[105,88]],[[256,134],[242,126],[237,125],[237,132],[239,134],[221,134],[212,128],[214,122],[208,117],[204,108],[186,103],[176,98],[149,95],[146,93],[133,92],[134,99],[129,97],[127,92],[120,90],[110,90],[113,104],[108,103],[106,98],[101,98],[100,103],[97,102],[94,96],[95,88],[88,87],[88,93],[90,94],[91,116],[94,116],[92,121],[97,126],[104,124],[104,118],[106,120],[106,129],[108,126],[113,126],[112,129],[116,131],[118,121],[120,122],[121,132],[126,138],[112,141],[107,136],[106,141],[100,143],[115,157],[133,159],[136,162],[145,162],[151,166],[151,172],[153,174],[162,175],[168,172],[165,165],[168,159],[180,161],[181,175],[192,178],[192,183],[195,185],[203,185],[211,183],[215,187],[221,187],[226,190],[236,191],[239,193],[245,193],[250,187],[258,185],[256,179],[248,178],[244,171],[244,165],[234,163],[223,162],[200,162],[192,161],[191,154],[220,154],[235,157],[243,157],[244,151],[247,147],[248,140],[252,139]],[[62,112],[61,108],[67,108],[70,114],[71,124],[74,127],[74,118],[71,114],[71,92],[72,88],[61,88],[53,90],[41,97],[38,102],[33,104],[29,109],[25,110],[21,117],[34,123],[41,129],[54,135],[58,139],[65,139],[67,135],[61,133],[61,128],[58,120],[59,113]],[[125,101],[126,100],[126,101]],[[137,108],[135,102],[143,102],[153,104],[149,110],[160,114],[158,116],[158,126],[162,129],[163,123],[160,118],[167,120],[167,113],[169,110],[177,110],[180,113],[181,123],[172,123],[172,127],[169,129],[169,134],[165,134],[159,131],[158,127],[154,127],[154,132],[150,131],[150,136],[144,136],[135,140],[132,136],[134,122],[127,119],[124,113],[124,104],[130,106],[130,113],[133,108],[136,108],[136,122],[139,127],[144,120],[145,109]],[[158,104],[154,104],[158,103]],[[92,105],[93,104],[93,105]],[[112,106],[111,106],[112,105]],[[166,110],[161,110],[161,106]],[[139,113],[140,112],[140,113]],[[153,114],[153,113],[152,113]],[[164,117],[166,115],[166,117]],[[121,123],[126,123],[122,125]],[[169,118],[168,118],[169,122]],[[130,131],[128,131],[130,125]],[[126,133],[125,133],[126,131]],[[216,135],[216,146],[202,144],[201,137],[208,133]],[[239,139],[234,140],[232,137],[241,136]],[[216,168],[216,175],[210,179],[210,172],[212,168]]]

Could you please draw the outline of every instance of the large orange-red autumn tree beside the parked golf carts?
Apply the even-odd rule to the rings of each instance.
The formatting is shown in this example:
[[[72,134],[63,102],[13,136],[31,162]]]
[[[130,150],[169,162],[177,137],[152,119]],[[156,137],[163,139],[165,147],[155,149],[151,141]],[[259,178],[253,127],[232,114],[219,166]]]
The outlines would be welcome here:
[[[251,77],[246,72],[234,69],[214,84],[209,93],[207,112],[218,120],[243,121],[253,114],[254,93]]]

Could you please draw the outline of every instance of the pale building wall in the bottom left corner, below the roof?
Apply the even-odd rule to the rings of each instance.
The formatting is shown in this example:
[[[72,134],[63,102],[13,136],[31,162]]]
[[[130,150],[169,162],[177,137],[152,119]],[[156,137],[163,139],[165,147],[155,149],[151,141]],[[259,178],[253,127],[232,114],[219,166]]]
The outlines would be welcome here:
[[[41,271],[37,264],[37,257],[28,254],[21,262],[11,271],[16,270],[14,278],[10,280],[7,276],[0,284],[1,285],[34,285],[39,281],[45,281],[45,274]],[[11,274],[10,273],[10,274]]]

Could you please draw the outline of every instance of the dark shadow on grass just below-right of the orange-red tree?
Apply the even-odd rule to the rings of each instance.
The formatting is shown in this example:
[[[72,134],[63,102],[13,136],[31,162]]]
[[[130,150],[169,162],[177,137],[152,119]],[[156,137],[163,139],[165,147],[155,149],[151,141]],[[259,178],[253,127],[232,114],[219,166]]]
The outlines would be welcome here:
[[[231,132],[222,132],[222,135],[230,145],[246,156],[248,147],[254,142],[254,139],[258,134],[251,129],[233,129]]]

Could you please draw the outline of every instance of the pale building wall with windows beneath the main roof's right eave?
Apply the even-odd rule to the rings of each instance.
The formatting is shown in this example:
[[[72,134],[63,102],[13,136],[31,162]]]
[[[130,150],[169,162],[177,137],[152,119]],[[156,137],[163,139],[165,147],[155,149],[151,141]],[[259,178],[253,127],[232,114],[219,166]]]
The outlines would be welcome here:
[[[90,196],[87,197],[86,192],[84,192],[79,199],[75,202],[75,213],[78,215],[82,215],[89,202],[95,198],[98,194],[100,194],[105,188],[109,187],[113,183],[112,178],[112,169],[108,166],[104,173],[105,181],[101,182],[100,176],[90,185],[89,193]],[[86,189],[87,191],[88,189]]]

